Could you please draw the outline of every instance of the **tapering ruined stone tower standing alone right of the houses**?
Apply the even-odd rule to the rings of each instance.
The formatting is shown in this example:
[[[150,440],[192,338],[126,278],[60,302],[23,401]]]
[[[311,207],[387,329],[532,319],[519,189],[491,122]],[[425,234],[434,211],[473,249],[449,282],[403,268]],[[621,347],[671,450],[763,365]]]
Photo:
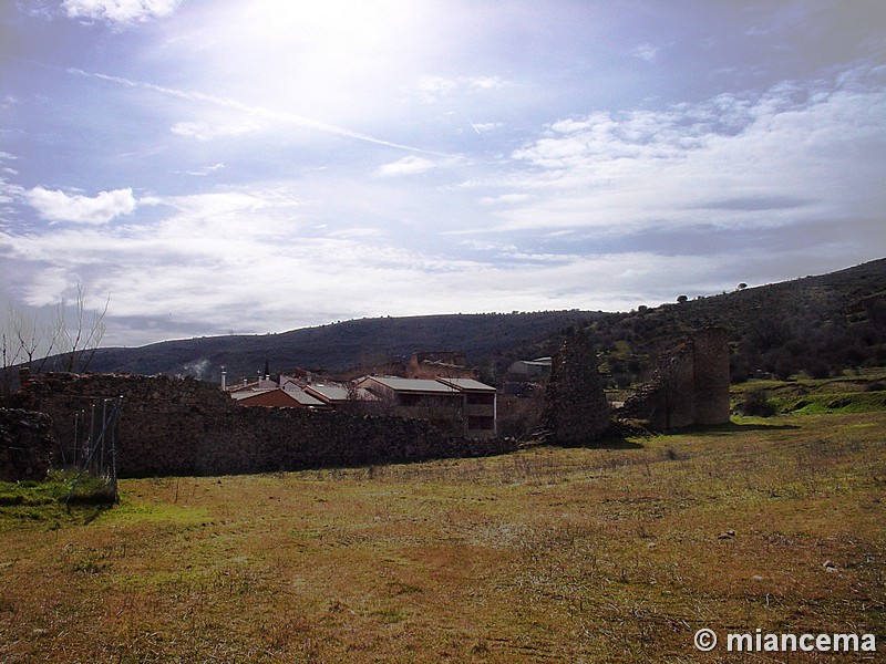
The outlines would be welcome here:
[[[554,443],[584,445],[609,428],[609,404],[590,339],[575,333],[554,356],[544,422]]]

